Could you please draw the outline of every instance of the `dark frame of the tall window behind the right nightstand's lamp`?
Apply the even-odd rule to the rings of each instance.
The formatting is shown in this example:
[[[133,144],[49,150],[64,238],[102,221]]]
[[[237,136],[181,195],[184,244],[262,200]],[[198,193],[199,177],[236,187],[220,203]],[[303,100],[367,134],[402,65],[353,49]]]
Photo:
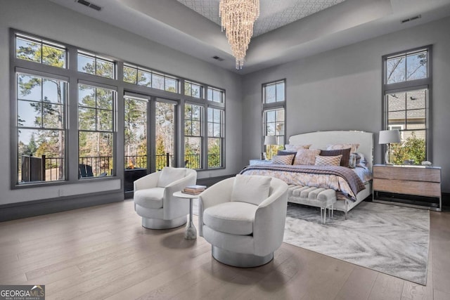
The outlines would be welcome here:
[[[387,84],[387,60],[399,56],[408,56],[411,53],[418,53],[420,51],[426,51],[428,54],[427,58],[427,74],[428,77],[422,79],[413,79],[395,82],[392,84]],[[406,70],[405,70],[406,72]],[[421,46],[416,48],[411,48],[406,51],[397,51],[395,53],[390,53],[382,56],[382,130],[389,129],[389,118],[388,118],[388,103],[387,96],[392,93],[408,93],[411,91],[425,89],[428,93],[425,96],[425,129],[420,129],[420,131],[425,131],[425,160],[432,161],[432,45]],[[405,108],[406,109],[406,108]],[[407,111],[407,109],[405,110]],[[407,122],[407,119],[405,119]],[[400,131],[401,137],[403,139],[404,132],[410,132],[415,130],[402,129]],[[416,130],[417,131],[417,130]],[[384,151],[384,150],[383,150]]]

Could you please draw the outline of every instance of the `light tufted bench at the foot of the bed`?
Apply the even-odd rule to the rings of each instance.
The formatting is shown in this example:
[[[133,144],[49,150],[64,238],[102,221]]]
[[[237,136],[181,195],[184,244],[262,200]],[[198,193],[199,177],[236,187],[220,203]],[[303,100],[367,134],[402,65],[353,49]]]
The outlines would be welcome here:
[[[330,188],[289,185],[288,202],[309,205],[311,207],[320,207],[322,223],[326,223],[326,209],[328,209],[328,217],[333,216],[336,191],[331,190]],[[325,211],[323,217],[322,211]]]

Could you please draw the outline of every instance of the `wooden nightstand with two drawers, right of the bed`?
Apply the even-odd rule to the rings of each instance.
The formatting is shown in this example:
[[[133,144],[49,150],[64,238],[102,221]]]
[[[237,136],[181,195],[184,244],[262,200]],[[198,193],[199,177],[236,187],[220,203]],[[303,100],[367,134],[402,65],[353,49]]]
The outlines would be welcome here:
[[[373,202],[441,211],[441,168],[373,166]]]

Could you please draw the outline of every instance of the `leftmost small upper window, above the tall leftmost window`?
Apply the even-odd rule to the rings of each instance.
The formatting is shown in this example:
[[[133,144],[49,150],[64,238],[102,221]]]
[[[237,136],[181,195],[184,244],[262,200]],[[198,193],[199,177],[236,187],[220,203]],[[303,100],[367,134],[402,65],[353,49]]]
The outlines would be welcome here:
[[[67,67],[65,46],[15,34],[15,57],[53,67]]]

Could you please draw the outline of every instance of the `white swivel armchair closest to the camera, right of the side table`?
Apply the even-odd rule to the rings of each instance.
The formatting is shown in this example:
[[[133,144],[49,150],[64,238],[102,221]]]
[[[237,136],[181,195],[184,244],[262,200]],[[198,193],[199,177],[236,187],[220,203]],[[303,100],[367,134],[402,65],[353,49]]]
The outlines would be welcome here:
[[[262,266],[283,242],[288,185],[268,176],[237,175],[199,197],[199,235],[230,266]]]

